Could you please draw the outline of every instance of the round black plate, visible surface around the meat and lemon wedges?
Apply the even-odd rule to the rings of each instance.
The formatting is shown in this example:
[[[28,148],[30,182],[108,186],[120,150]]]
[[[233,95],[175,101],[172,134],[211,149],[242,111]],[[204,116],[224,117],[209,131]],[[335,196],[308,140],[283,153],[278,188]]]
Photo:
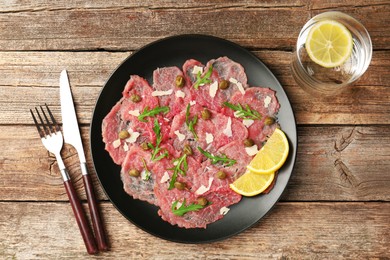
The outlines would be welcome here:
[[[267,86],[276,90],[281,104],[278,120],[286,133],[291,151],[279,171],[277,182],[269,194],[243,198],[230,207],[223,219],[206,229],[184,229],[163,221],[158,208],[127,195],[120,179],[120,166],[113,163],[104,150],[101,124],[115,103],[131,74],[152,82],[158,67],[178,66],[190,58],[206,63],[210,59],[228,56],[245,68],[251,86]],[[291,176],[297,149],[296,123],[290,102],[278,80],[251,52],[224,39],[205,35],[180,35],[153,42],[128,57],[111,75],[103,87],[93,113],[90,132],[92,159],[97,176],[114,206],[133,224],[157,237],[182,243],[205,243],[238,234],[257,223],[280,198]],[[123,223],[126,225],[126,223]]]

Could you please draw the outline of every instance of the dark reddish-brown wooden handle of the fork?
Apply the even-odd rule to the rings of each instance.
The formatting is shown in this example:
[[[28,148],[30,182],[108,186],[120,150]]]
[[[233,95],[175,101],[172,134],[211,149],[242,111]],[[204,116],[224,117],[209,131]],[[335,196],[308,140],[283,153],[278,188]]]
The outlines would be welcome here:
[[[79,226],[81,236],[83,237],[85,247],[88,254],[97,254],[95,238],[93,237],[91,228],[88,225],[87,218],[81,206],[80,200],[77,197],[76,191],[71,180],[64,181],[66,193],[68,194],[70,204],[72,205],[74,216],[76,217],[77,225]]]

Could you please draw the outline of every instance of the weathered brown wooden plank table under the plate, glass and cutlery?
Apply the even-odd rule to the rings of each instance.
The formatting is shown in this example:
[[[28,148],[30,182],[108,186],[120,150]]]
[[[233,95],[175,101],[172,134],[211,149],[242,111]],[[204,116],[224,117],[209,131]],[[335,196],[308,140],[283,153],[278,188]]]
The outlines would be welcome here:
[[[389,1],[33,2],[0,5],[1,259],[88,258],[55,158],[28,111],[47,103],[61,118],[64,68],[111,244],[96,258],[390,258]],[[300,28],[328,10],[359,19],[374,53],[353,87],[319,99],[294,82],[289,63]],[[128,222],[102,191],[89,151],[92,111],[111,72],[143,45],[184,33],[251,50],[280,80],[298,123],[296,166],[280,202],[254,227],[211,244],[168,242]],[[62,154],[86,206],[77,154],[68,145]]]

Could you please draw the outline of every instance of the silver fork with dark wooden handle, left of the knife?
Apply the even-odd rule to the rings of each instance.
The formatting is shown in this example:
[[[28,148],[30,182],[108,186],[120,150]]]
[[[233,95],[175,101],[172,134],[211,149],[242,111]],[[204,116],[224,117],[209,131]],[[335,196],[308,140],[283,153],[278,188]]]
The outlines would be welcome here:
[[[88,225],[87,218],[85,216],[85,212],[81,206],[80,200],[77,197],[76,191],[73,187],[72,181],[69,177],[68,171],[66,170],[66,167],[64,165],[64,162],[61,158],[61,150],[64,143],[61,129],[59,125],[57,124],[56,120],[54,119],[53,114],[51,113],[49,107],[47,104],[45,104],[46,110],[49,113],[49,118],[47,117],[44,109],[42,106],[40,106],[41,113],[43,115],[44,120],[42,119],[42,116],[40,112],[38,111],[38,108],[35,107],[35,112],[39,118],[39,123],[37,118],[34,116],[33,110],[30,109],[32,118],[34,120],[34,124],[38,130],[39,136],[41,137],[43,146],[45,148],[53,153],[56,157],[58,167],[60,169],[64,186],[66,189],[66,193],[68,194],[70,204],[72,205],[73,214],[76,217],[77,224],[79,226],[81,235],[84,240],[85,247],[87,248],[87,252],[89,254],[96,254],[98,253],[98,249],[96,247],[95,238],[92,234],[91,228]]]

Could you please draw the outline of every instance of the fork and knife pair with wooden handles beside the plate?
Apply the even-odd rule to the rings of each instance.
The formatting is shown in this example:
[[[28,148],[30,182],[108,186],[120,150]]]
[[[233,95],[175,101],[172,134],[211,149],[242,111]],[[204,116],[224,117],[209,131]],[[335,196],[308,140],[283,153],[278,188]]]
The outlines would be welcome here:
[[[58,167],[64,181],[66,193],[69,197],[69,201],[72,206],[73,213],[79,226],[87,252],[89,254],[96,254],[99,251],[108,251],[109,246],[105,238],[105,231],[103,228],[102,219],[99,214],[92,179],[88,173],[86,165],[85,153],[81,141],[81,135],[77,123],[76,112],[66,70],[63,70],[60,76],[60,99],[63,134],[61,133],[60,126],[56,122],[53,114],[46,104],[44,107],[40,106],[39,109],[37,107],[35,108],[36,116],[34,115],[34,111],[32,109],[30,109],[30,112],[44,147],[49,152],[53,153],[56,157]],[[64,141],[76,149],[79,157],[80,169],[83,177],[85,192],[87,195],[88,207],[92,219],[94,233],[92,233],[92,230],[88,224],[88,220],[85,212],[83,211],[81,202],[77,197],[68,171],[61,158],[60,152]],[[95,234],[95,237],[93,234]]]

